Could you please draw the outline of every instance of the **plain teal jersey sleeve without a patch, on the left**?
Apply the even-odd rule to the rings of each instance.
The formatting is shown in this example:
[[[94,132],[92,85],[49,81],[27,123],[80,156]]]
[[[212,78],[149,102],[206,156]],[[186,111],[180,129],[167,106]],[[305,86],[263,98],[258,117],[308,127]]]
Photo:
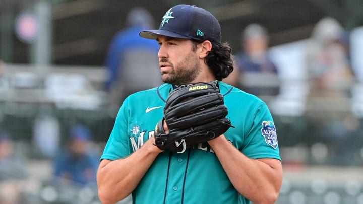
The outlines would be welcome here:
[[[125,158],[130,154],[128,148],[128,98],[125,99],[123,105],[119,109],[113,129],[104,148],[102,159],[116,160]]]

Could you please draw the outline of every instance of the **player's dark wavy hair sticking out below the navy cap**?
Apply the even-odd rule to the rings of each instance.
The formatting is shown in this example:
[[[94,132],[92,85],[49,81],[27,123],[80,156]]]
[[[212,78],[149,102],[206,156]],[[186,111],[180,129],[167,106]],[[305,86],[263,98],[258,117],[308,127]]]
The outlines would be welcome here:
[[[193,51],[195,51],[197,49],[197,45],[201,42],[193,42]],[[234,69],[231,52],[232,49],[228,43],[222,43],[221,45],[212,43],[212,49],[204,59],[204,62],[210,67],[210,69],[212,69],[216,79],[219,81],[228,77]]]

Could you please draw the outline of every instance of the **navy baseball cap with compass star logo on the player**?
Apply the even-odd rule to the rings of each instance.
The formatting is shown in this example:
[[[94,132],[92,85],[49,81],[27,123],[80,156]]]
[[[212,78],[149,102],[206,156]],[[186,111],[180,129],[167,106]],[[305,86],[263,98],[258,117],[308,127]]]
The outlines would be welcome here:
[[[221,28],[218,20],[207,10],[191,5],[176,5],[162,17],[158,30],[145,30],[140,36],[156,40],[159,35],[174,38],[209,40],[221,44]]]

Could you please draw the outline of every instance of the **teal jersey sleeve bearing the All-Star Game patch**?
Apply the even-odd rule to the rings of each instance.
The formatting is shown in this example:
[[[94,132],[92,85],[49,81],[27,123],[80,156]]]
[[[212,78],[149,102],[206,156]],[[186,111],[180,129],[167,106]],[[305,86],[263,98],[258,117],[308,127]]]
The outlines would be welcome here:
[[[265,103],[257,107],[251,128],[246,134],[240,150],[252,159],[274,158],[281,160],[276,127]]]

